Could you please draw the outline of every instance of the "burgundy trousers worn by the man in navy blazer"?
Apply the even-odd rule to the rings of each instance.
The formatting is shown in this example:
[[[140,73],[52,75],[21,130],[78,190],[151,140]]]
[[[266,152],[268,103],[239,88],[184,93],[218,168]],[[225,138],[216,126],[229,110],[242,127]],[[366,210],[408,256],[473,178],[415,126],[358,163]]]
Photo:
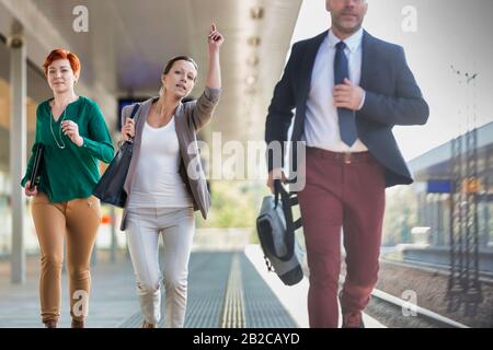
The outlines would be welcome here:
[[[337,327],[343,229],[347,273],[344,313],[362,312],[378,279],[385,211],[385,168],[369,152],[307,148],[306,187],[298,192],[310,269],[310,327]]]

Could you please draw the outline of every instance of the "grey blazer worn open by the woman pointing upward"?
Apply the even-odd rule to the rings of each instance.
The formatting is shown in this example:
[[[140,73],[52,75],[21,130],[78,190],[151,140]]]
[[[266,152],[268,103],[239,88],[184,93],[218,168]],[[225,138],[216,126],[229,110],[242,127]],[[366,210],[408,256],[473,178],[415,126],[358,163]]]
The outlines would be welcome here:
[[[198,100],[180,103],[174,112],[174,122],[181,155],[180,175],[191,194],[194,202],[194,210],[200,210],[204,219],[207,219],[207,212],[210,207],[210,194],[207,189],[207,182],[198,152],[197,131],[210,120],[214,109],[219,102],[220,93],[221,89],[210,89],[206,86]],[[131,195],[134,178],[135,176],[146,176],[146,174],[136,174],[136,168],[140,156],[144,126],[151,105],[157,100],[158,97],[152,97],[145,101],[135,116],[134,152],[124,185],[124,189],[128,196],[122,215],[122,231],[125,231],[126,229],[127,206]],[[130,116],[133,108],[134,105],[129,105],[122,109],[122,125],[124,125],[126,118]]]

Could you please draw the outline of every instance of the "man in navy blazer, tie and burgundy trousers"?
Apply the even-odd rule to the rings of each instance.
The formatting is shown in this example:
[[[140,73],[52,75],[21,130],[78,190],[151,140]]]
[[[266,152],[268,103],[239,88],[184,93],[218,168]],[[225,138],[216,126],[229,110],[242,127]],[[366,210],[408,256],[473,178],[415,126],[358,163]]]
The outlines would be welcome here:
[[[392,128],[424,125],[429,110],[402,47],[363,30],[367,1],[325,0],[325,7],[331,28],[293,46],[268,107],[265,140],[282,142],[282,156],[268,153],[267,186],[285,179],[284,143],[296,108],[291,168],[306,182],[298,199],[310,327],[337,327],[341,229],[347,267],[342,324],[364,327],[362,312],[378,279],[385,189],[413,182]],[[298,177],[288,176],[291,183]]]

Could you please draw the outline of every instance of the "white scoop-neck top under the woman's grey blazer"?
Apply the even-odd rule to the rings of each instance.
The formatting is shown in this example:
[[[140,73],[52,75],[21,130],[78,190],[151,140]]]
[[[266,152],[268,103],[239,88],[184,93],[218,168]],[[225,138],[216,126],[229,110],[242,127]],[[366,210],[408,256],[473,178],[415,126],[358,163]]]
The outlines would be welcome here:
[[[186,208],[192,198],[180,176],[180,145],[174,116],[161,128],[147,121],[128,208]]]

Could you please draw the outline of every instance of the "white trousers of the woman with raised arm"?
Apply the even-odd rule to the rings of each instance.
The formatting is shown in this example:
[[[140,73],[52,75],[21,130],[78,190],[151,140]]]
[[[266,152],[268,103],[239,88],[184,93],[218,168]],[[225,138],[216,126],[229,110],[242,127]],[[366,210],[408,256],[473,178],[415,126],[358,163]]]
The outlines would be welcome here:
[[[140,310],[148,323],[161,318],[159,234],[164,243],[164,326],[183,327],[186,310],[188,260],[195,231],[192,208],[128,210],[127,244],[137,280]]]

